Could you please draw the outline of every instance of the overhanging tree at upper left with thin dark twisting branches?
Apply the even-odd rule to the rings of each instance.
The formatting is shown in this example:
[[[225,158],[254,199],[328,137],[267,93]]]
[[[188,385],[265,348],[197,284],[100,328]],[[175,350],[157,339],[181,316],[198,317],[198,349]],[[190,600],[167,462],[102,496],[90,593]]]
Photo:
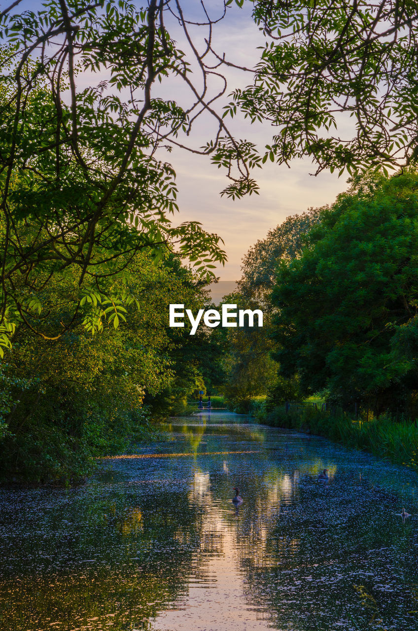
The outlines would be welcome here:
[[[197,52],[177,1],[150,0],[137,9],[126,0],[52,0],[21,13],[19,4],[0,13],[1,352],[16,324],[30,326],[31,309],[42,307],[40,287],[56,275],[75,275],[80,293],[54,338],[80,316],[98,330],[104,316],[97,301],[126,307],[126,295],[111,295],[108,280],[126,280],[141,249],[160,256],[169,246],[206,276],[224,262],[217,235],[196,221],[170,223],[175,172],[158,158],[160,148],[181,144],[179,134],[188,136],[202,112],[218,131],[200,152],[227,168],[227,194],[256,189],[249,167],[259,161],[213,109],[207,81],[217,74],[216,60],[209,50]],[[203,11],[210,33],[213,20]],[[200,66],[203,88],[167,30],[169,16]],[[83,73],[102,74],[97,85],[83,87]],[[156,83],[173,78],[189,90],[190,107],[154,93]],[[122,313],[115,310],[114,324]]]

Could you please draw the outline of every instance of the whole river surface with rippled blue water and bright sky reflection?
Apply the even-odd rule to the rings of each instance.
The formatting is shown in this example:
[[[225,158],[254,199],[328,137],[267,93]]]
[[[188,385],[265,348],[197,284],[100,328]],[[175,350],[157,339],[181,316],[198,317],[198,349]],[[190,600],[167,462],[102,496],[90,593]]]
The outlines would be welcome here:
[[[243,416],[165,430],[83,487],[0,491],[1,631],[418,628],[414,473]]]

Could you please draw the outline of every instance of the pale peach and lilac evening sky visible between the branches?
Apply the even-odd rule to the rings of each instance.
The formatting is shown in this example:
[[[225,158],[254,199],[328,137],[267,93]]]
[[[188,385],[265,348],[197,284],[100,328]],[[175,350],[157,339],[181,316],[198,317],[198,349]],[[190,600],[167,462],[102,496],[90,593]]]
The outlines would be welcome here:
[[[23,0],[19,10],[40,7],[39,0]],[[139,2],[138,6],[145,4]],[[0,6],[4,3],[0,3]],[[211,17],[219,15],[221,3],[218,0],[208,0],[208,10]],[[201,18],[200,2],[198,0],[184,0],[182,2],[184,14],[191,19]],[[16,8],[17,10],[17,8]],[[167,20],[169,22],[169,20]],[[172,36],[177,39],[179,47],[186,50],[187,44],[175,23],[169,24]],[[207,33],[202,28],[191,28],[199,50],[204,47],[204,37]],[[251,20],[251,3],[244,3],[244,8],[232,6],[224,20],[215,25],[213,31],[213,46],[219,54],[225,52],[227,59],[239,65],[252,68],[258,61],[260,52],[257,46],[263,44],[264,39],[256,25]],[[199,81],[198,72],[196,79]],[[235,69],[227,69],[225,76],[228,81],[227,94],[236,87],[244,87],[251,83],[251,74],[242,73]],[[79,78],[79,87],[99,83],[103,79],[100,74],[88,76],[83,74]],[[215,93],[219,82],[213,83]],[[184,85],[167,81],[157,86],[157,95],[174,99],[181,104],[188,103],[189,95]],[[217,109],[222,112],[219,102]],[[273,128],[268,124],[249,124],[242,117],[230,122],[230,129],[236,138],[246,138],[261,147],[271,139]],[[193,133],[187,139],[191,146],[199,148],[211,138],[215,127],[207,117],[202,117],[194,126]],[[160,153],[160,157],[169,160],[177,173],[179,187],[178,203],[180,212],[174,217],[174,223],[182,221],[200,221],[208,232],[215,232],[224,240],[224,249],[228,261],[224,267],[218,266],[215,273],[222,281],[236,281],[241,276],[241,259],[258,239],[263,239],[268,230],[282,223],[289,215],[301,213],[310,207],[331,204],[339,192],[347,189],[346,178],[338,179],[337,174],[324,172],[317,177],[310,175],[316,168],[310,160],[294,160],[290,167],[277,165],[268,161],[263,169],[256,169],[253,177],[260,186],[260,194],[248,196],[232,201],[220,196],[220,192],[228,184],[222,170],[211,165],[207,156],[188,153],[174,149],[172,153]]]

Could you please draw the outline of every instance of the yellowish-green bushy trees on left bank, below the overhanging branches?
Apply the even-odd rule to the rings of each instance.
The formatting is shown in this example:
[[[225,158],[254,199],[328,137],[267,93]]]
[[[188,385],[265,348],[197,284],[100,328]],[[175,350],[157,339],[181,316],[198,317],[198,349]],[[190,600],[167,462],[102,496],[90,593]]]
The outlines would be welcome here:
[[[81,324],[54,341],[28,327],[16,330],[0,371],[2,476],[80,478],[91,456],[126,450],[147,435],[150,413],[169,415],[202,381],[206,340],[170,329],[167,314],[173,293],[193,311],[204,307],[205,285],[169,252],[158,264],[137,254],[129,283],[139,309],[128,305],[126,322],[101,335]],[[42,326],[53,329],[65,317],[74,286],[76,278],[66,276],[44,289],[49,313]]]

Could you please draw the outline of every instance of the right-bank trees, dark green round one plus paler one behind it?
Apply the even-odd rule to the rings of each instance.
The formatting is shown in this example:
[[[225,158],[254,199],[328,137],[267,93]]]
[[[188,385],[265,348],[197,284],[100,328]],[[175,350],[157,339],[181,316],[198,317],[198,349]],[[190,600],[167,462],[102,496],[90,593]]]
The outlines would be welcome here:
[[[251,296],[273,316],[262,341],[249,331],[230,338],[229,392],[269,392],[275,404],[319,392],[352,415],[417,417],[415,170],[353,178],[331,206],[270,231],[242,270],[237,299]]]

